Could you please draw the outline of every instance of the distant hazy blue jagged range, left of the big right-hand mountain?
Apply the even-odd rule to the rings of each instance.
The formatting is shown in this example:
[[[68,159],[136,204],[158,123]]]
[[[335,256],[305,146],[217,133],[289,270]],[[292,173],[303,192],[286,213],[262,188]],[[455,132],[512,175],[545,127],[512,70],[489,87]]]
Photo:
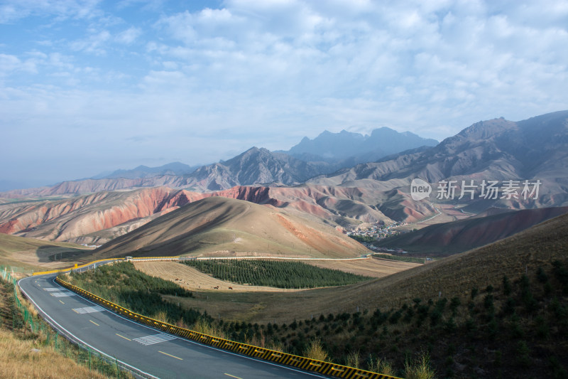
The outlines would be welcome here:
[[[310,141],[309,146],[306,146],[307,141]],[[344,144],[350,148],[346,149]],[[55,196],[146,186],[170,186],[191,191],[219,191],[233,186],[270,183],[294,186],[359,161],[370,161],[391,152],[435,144],[437,141],[434,139],[423,139],[409,132],[398,133],[386,127],[373,130],[371,136],[323,132],[314,140],[303,139],[288,152],[252,147],[232,159],[206,166],[187,166],[179,162],[160,167],[138,166],[136,169],[117,170],[50,187],[7,191],[0,193],[0,197]],[[310,159],[296,156],[305,155],[297,154],[297,151],[306,149],[315,149],[324,156],[304,156]]]

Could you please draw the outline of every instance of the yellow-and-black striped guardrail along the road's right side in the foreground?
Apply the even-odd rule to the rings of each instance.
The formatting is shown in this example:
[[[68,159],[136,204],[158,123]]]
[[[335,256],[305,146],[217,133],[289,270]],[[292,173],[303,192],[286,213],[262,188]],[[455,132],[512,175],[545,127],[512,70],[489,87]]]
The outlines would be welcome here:
[[[124,308],[124,306],[114,304],[111,301],[103,299],[102,297],[98,297],[97,295],[87,292],[80,287],[67,283],[64,280],[60,279],[60,277],[57,277],[55,281],[61,284],[63,287],[70,289],[71,291],[80,294],[83,297],[86,297],[87,299],[90,299],[91,301],[102,305],[107,309],[110,309],[111,311],[114,311],[116,314],[121,314],[122,316],[126,316],[133,321],[152,326],[155,329],[160,329],[162,331],[175,334],[176,336],[204,343],[216,348],[235,351],[236,353],[263,359],[265,361],[290,365],[302,370],[314,371],[316,373],[321,373],[324,375],[332,375],[337,378],[400,379],[391,375],[383,375],[379,373],[373,373],[371,371],[361,370],[359,368],[336,365],[334,363],[323,361],[316,361],[315,359],[305,358],[302,356],[294,356],[292,354],[282,353],[280,351],[274,351],[268,348],[261,348],[258,346],[247,345],[246,343],[209,336],[208,334],[181,328],[180,326],[175,326],[162,321],[151,319],[150,317],[143,316],[141,314],[137,314],[129,309]]]

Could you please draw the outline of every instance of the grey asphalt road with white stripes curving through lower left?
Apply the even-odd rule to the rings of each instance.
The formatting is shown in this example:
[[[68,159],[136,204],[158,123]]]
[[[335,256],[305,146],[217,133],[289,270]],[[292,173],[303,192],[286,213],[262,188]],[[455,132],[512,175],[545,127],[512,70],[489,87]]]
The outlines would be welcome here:
[[[55,274],[18,284],[63,334],[157,378],[327,378],[187,341],[124,319],[55,283]]]

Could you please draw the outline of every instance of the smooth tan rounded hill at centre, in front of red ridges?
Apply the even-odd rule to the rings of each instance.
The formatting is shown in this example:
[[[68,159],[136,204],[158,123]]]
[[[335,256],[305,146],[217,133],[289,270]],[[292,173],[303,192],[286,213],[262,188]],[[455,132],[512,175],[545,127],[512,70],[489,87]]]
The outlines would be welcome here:
[[[368,252],[334,228],[278,208],[212,197],[187,204],[108,242],[94,257],[286,255],[356,257]]]

